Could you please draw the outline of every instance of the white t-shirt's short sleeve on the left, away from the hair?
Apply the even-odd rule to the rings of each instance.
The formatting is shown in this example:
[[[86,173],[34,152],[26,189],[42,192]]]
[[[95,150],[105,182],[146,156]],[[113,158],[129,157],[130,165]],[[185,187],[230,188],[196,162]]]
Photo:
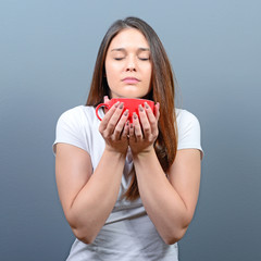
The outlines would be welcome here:
[[[55,128],[55,140],[52,145],[54,156],[57,153],[55,145],[59,142],[74,145],[89,152],[83,125],[79,108],[65,111],[59,117]]]

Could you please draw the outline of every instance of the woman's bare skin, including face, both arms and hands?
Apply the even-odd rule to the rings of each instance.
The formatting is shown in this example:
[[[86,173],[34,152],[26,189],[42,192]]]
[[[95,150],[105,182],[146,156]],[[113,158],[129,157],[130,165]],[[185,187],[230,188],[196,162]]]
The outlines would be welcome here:
[[[141,98],[149,92],[151,61],[140,60],[141,54],[149,57],[148,47],[137,29],[124,29],[113,38],[105,59],[112,98]],[[129,75],[138,82],[122,80]],[[104,101],[109,101],[108,97]],[[105,113],[99,128],[105,149],[94,172],[86,151],[67,144],[57,145],[58,191],[65,217],[79,240],[92,243],[110,215],[117,199],[128,146],[140,198],[160,236],[166,244],[174,244],[186,233],[198,200],[200,151],[178,150],[169,172],[163,172],[153,149],[159,134],[159,105],[156,104],[156,114],[146,104],[140,107],[140,121],[134,114],[133,124],[127,122],[127,111],[122,115],[123,103],[115,103]]]

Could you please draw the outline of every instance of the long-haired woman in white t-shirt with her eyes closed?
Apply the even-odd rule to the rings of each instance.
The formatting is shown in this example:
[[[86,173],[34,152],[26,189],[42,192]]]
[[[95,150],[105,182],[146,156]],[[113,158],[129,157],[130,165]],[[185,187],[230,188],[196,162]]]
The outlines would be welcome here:
[[[124,103],[145,98],[127,121]],[[140,120],[138,119],[140,117]],[[144,21],[127,17],[107,32],[86,105],[57,125],[58,191],[76,240],[67,260],[178,260],[177,241],[191,222],[200,184],[200,127],[174,107],[164,48]]]

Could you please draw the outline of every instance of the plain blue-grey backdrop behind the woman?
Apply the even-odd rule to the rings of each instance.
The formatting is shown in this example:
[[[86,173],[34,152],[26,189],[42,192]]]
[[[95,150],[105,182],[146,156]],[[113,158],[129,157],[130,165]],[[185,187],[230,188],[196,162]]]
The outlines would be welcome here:
[[[261,2],[0,2],[0,260],[64,260],[73,241],[51,146],[85,103],[98,46],[116,18],[147,21],[165,46],[178,104],[201,123],[202,181],[181,261],[259,261]]]

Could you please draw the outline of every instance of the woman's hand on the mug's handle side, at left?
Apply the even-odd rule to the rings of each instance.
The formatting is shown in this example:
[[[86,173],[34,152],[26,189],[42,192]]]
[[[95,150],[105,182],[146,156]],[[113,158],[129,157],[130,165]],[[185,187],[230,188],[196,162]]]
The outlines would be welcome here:
[[[105,97],[104,103],[108,101]],[[113,104],[102,119],[99,132],[105,141],[105,149],[125,154],[128,148],[129,123],[128,110],[122,114],[123,109],[123,102]]]

